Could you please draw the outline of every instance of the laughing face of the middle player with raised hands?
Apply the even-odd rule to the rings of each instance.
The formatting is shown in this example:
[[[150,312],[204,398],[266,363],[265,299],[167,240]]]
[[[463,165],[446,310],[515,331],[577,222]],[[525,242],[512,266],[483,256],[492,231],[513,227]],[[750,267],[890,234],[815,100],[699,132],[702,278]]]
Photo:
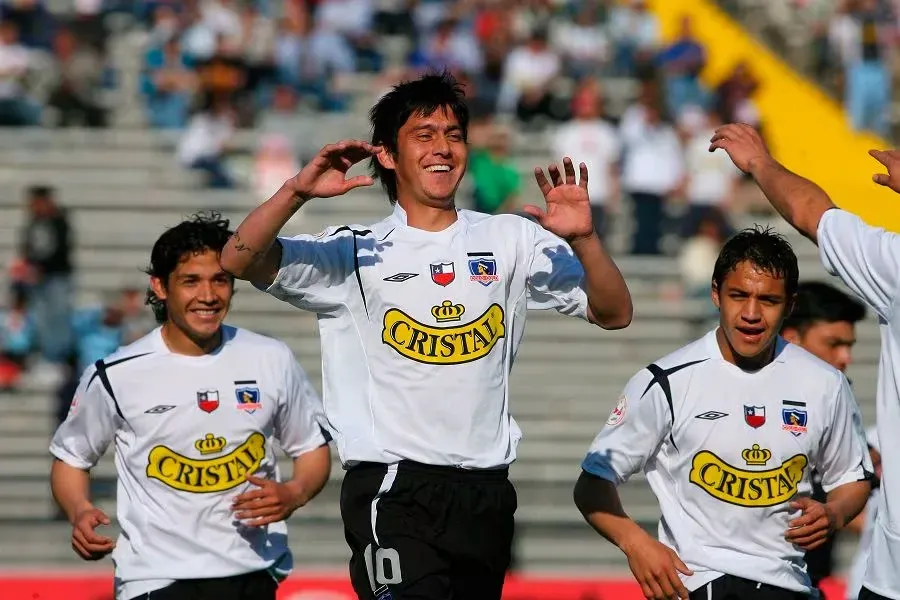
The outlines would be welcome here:
[[[413,113],[397,134],[396,153],[382,152],[378,160],[394,171],[401,206],[417,202],[449,208],[466,172],[468,154],[459,120],[443,107],[427,116]]]

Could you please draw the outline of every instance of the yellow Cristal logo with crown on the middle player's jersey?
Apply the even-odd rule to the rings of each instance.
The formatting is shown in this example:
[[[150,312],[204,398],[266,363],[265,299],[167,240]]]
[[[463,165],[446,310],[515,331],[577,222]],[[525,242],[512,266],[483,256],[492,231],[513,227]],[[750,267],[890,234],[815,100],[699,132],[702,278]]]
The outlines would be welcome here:
[[[443,305],[435,308],[443,308]],[[484,358],[490,353],[497,340],[506,335],[503,317],[503,308],[492,304],[469,323],[457,327],[431,327],[419,323],[400,309],[392,308],[384,313],[381,340],[417,362],[458,365]]]

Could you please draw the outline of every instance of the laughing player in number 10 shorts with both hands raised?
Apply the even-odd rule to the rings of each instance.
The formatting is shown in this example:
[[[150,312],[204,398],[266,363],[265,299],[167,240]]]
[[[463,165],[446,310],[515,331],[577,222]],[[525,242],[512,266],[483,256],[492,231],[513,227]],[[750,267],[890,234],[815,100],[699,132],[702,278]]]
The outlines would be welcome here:
[[[225,270],[318,314],[329,432],[360,598],[500,598],[522,433],[509,371],[526,310],[607,329],[631,320],[628,288],[594,233],[587,169],[536,178],[536,222],[455,206],[468,110],[448,75],[387,93],[372,143],[326,146],[255,209],[222,252]],[[346,178],[372,158],[393,212],[372,225],[276,237],[313,198],[371,185]]]

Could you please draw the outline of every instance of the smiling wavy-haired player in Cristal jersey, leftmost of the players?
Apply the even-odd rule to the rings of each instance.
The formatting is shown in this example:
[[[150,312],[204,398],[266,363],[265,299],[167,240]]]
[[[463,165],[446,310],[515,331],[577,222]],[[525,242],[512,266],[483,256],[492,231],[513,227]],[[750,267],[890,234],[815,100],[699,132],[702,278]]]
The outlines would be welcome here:
[[[328,479],[321,402],[290,349],[223,325],[228,221],[198,215],[153,246],[161,326],[88,368],[50,445],[51,487],[85,560],[113,553],[117,600],[274,600],[291,569],[284,519]],[[280,481],[275,441],[293,458]],[[118,541],[89,497],[114,443]]]

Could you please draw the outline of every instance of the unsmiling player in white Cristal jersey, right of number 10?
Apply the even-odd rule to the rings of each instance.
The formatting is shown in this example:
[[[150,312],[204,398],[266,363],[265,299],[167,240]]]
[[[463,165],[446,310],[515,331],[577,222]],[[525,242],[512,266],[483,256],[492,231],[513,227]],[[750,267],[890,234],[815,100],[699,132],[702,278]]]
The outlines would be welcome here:
[[[718,327],[632,377],[591,444],[575,502],[647,598],[807,598],[803,551],[866,503],[871,462],[846,378],[778,336],[797,283],[784,238],[732,237],[712,276]],[[824,504],[809,497],[813,468]],[[641,470],[660,541],[619,501]]]

